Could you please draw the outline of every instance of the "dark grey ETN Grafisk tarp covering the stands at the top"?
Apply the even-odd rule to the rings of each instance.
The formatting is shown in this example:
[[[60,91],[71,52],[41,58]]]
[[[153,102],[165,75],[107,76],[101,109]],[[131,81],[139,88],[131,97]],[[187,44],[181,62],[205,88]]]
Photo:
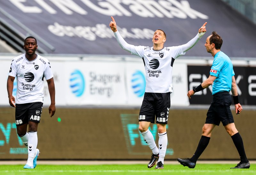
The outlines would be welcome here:
[[[203,45],[216,29],[225,41],[222,47],[227,55],[255,57],[255,26],[220,0],[4,0],[0,32],[9,38],[9,44],[9,40],[18,38],[15,44],[21,51],[23,40],[34,36],[41,53],[129,55],[120,48],[108,26],[111,16],[121,36],[132,45],[152,46],[157,29],[165,31],[166,47],[186,44],[208,22],[206,35],[186,56],[208,56]],[[241,45],[246,47],[241,49]]]

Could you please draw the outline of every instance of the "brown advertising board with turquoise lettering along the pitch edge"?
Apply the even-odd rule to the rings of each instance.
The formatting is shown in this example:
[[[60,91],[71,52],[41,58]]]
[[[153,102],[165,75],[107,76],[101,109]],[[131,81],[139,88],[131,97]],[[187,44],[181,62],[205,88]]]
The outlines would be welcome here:
[[[26,161],[28,149],[16,133],[15,108],[0,111],[0,159]],[[206,113],[207,109],[170,109],[165,160],[193,155]],[[234,109],[232,113],[248,159],[256,159],[255,110],[243,110],[239,117]],[[138,114],[139,109],[57,107],[51,118],[44,105],[37,130],[38,160],[149,160],[152,152],[138,130]],[[149,130],[158,145],[156,124]],[[216,127],[201,159],[239,160],[239,154],[226,131]]]

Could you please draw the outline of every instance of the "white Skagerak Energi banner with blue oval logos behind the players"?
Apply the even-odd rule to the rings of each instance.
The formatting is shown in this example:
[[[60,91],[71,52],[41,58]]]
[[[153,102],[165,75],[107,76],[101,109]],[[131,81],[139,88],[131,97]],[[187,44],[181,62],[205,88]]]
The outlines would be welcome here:
[[[142,59],[129,61],[111,60],[109,58],[84,60],[59,60],[47,57],[51,63],[55,83],[55,100],[57,106],[133,106],[140,107],[146,86],[145,68]],[[134,58],[131,58],[134,60]],[[53,60],[53,61],[51,61]],[[0,80],[7,81],[10,60],[1,60],[3,69]],[[173,92],[171,105],[188,106],[187,64],[173,65]],[[6,83],[4,83],[6,84]],[[3,98],[0,105],[8,105],[6,85],[0,90]],[[17,81],[14,80],[13,96],[16,97]],[[44,79],[44,105],[51,102],[48,84]]]

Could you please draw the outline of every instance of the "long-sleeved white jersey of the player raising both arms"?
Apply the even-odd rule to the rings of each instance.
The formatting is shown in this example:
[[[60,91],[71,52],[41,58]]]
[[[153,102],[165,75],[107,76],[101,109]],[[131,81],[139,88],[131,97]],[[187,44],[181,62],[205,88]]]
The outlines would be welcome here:
[[[164,47],[154,50],[153,47],[134,46],[126,43],[118,31],[114,32],[117,42],[126,51],[143,59],[146,70],[145,92],[172,93],[172,66],[174,60],[191,49],[202,37],[198,33],[187,44]]]

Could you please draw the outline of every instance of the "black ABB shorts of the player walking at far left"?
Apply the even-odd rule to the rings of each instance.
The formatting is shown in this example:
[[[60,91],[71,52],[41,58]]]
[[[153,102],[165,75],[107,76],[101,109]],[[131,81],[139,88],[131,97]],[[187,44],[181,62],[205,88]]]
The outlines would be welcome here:
[[[28,121],[40,123],[43,103],[33,102],[16,104],[15,107],[15,122],[16,126],[28,123]]]

